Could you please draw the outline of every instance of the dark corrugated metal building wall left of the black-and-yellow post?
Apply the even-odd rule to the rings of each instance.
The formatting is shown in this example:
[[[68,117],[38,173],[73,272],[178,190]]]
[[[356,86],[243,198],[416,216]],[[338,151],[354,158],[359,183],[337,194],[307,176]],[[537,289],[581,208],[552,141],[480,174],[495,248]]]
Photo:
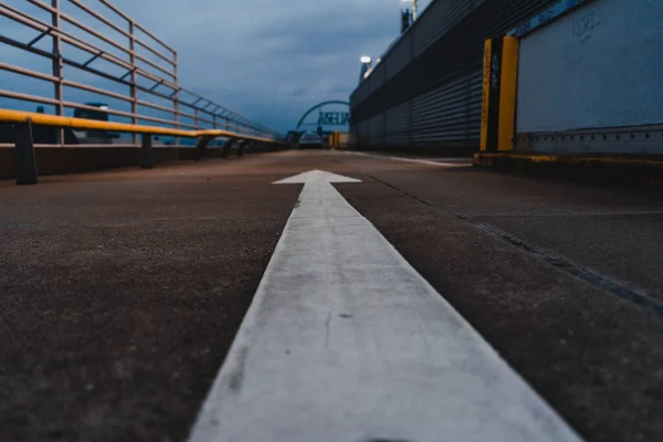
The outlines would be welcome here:
[[[352,125],[388,109],[387,134],[371,133],[373,146],[477,147],[484,41],[556,1],[436,0],[382,60],[385,76],[357,94]],[[407,62],[410,39],[415,56]]]

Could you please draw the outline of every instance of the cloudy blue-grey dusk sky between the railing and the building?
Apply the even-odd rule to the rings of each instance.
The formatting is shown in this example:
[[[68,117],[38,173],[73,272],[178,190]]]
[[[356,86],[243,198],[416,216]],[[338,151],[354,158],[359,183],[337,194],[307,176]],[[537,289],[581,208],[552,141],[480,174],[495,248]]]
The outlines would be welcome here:
[[[104,11],[96,0],[83,2]],[[24,0],[3,3],[28,8]],[[113,3],[178,51],[180,84],[280,131],[318,102],[348,99],[359,56],[385,52],[399,34],[400,8],[409,6],[400,0]],[[12,34],[7,27],[2,33]],[[0,49],[0,56],[21,65],[6,51]]]

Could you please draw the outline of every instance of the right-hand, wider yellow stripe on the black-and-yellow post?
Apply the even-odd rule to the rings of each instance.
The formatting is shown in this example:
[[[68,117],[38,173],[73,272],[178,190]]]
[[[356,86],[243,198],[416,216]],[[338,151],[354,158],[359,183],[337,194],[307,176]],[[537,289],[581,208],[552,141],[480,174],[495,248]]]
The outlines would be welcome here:
[[[516,87],[518,78],[519,42],[505,36],[502,50],[502,80],[499,88],[499,134],[497,150],[513,150],[516,123]]]

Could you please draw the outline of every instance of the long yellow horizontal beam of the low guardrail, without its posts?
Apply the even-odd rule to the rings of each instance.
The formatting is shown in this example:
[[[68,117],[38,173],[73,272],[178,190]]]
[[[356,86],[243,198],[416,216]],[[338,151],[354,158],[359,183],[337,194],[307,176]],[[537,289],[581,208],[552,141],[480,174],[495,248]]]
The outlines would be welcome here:
[[[249,139],[253,141],[269,141],[273,143],[273,139],[254,137],[252,135],[241,135],[233,131],[220,130],[220,129],[207,129],[207,130],[179,130],[167,127],[158,126],[143,126],[143,125],[130,125],[124,123],[112,123],[112,122],[99,122],[96,119],[85,118],[72,118],[61,117],[57,115],[36,114],[32,112],[10,110],[0,109],[0,122],[8,124],[21,124],[28,123],[28,119],[32,124],[40,126],[53,126],[53,127],[71,127],[73,129],[95,129],[95,130],[110,130],[120,131],[128,134],[149,134],[149,135],[168,135],[173,137],[186,137],[186,138],[198,138],[198,137],[234,137],[241,139]]]

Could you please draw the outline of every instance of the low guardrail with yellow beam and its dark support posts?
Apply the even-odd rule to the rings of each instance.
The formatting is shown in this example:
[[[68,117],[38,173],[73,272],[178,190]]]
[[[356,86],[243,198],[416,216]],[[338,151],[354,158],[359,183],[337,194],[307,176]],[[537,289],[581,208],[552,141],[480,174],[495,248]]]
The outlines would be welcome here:
[[[265,138],[256,135],[240,134],[223,129],[204,130],[182,130],[159,126],[141,126],[124,123],[99,122],[95,119],[71,118],[57,115],[45,115],[38,113],[0,109],[0,123],[11,124],[15,131],[15,175],[18,185],[35,185],[39,181],[36,160],[34,154],[34,143],[32,125],[55,127],[59,129],[88,129],[88,130],[113,130],[117,133],[127,133],[141,135],[140,151],[138,162],[141,168],[151,168],[155,165],[152,151],[152,136],[166,135],[172,137],[194,138],[196,139],[196,159],[201,160],[207,147],[211,140],[218,137],[225,137],[223,146],[223,157],[230,154],[230,149],[238,141],[238,154],[243,155],[246,143],[257,145],[284,145],[280,140]]]

